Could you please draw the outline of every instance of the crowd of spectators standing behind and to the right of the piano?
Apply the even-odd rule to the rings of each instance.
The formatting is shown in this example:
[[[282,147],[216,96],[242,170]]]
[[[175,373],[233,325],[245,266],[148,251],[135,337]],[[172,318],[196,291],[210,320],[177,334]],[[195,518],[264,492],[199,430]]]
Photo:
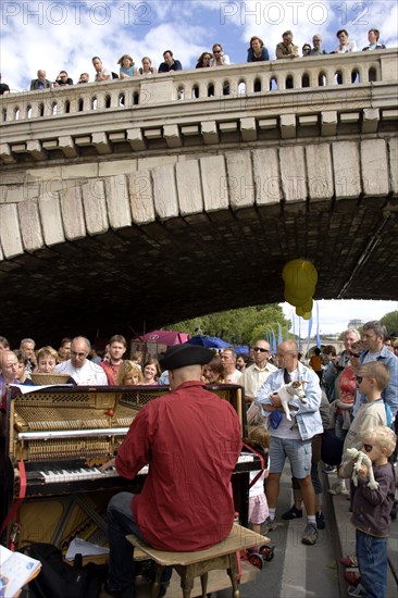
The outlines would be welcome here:
[[[256,491],[253,489],[250,495],[250,524],[254,528],[263,526],[264,533],[276,528],[279,479],[285,460],[288,459],[294,504],[282,514],[282,519],[302,518],[303,504],[307,524],[301,541],[309,546],[316,544],[319,531],[326,525],[322,510],[321,460],[326,474],[336,472],[336,465],[340,464],[338,473],[341,484],[338,488],[335,485],[329,491],[350,495],[352,523],[359,530],[357,541],[362,541],[361,534],[370,536],[370,541],[375,541],[374,538],[380,535],[385,541],[388,537],[388,522],[381,526],[372,518],[374,496],[369,497],[369,493],[362,489],[356,499],[356,487],[351,483],[348,488],[345,478],[349,478],[353,471],[353,461],[347,451],[355,448],[370,453],[381,484],[385,483],[389,487],[391,475],[395,481],[391,465],[396,461],[397,451],[390,447],[396,440],[393,429],[397,429],[398,332],[388,336],[381,322],[371,321],[363,325],[361,333],[353,328],[347,329],[343,334],[343,342],[344,350],[340,353],[336,352],[333,345],[328,345],[313,348],[303,359],[293,339],[279,344],[275,356],[271,354],[266,340],[258,339],[247,356],[238,354],[233,348],[214,351],[213,359],[201,370],[202,382],[241,385],[247,403],[249,436],[252,426],[268,433],[266,437],[263,437],[263,433],[256,435],[256,443],[269,452],[270,462],[266,475],[262,476],[261,484],[257,484]],[[35,349],[34,339],[24,338],[20,348],[13,351],[7,338],[0,336],[2,412],[7,409],[9,385],[34,385],[36,374],[49,376],[50,384],[57,382],[57,374],[65,374],[70,384],[85,386],[169,385],[167,370],[163,367],[162,373],[153,354],[145,356],[136,351],[130,359],[124,360],[127,342],[122,335],[112,336],[100,356],[83,336],[63,338],[58,351],[50,346]],[[162,362],[162,356],[159,359]],[[297,382],[304,386],[306,400],[300,401],[296,396],[289,399],[289,419],[282,404],[283,388]],[[388,434],[382,428],[386,428]],[[387,437],[388,441],[385,440]],[[332,445],[331,438],[334,438]],[[369,438],[378,446],[377,450],[374,449],[374,456],[373,444],[370,444]],[[388,445],[386,447],[385,441]],[[327,465],[326,452],[333,465]],[[391,473],[388,473],[389,468]],[[368,481],[369,470],[361,470],[359,475],[361,479]],[[264,490],[261,489],[263,482]],[[371,528],[361,527],[358,501],[362,510],[368,509]],[[387,512],[395,516],[394,495],[393,498],[386,495],[382,502],[384,515]],[[361,577],[352,577],[351,572],[348,572],[347,581],[353,587],[361,583],[358,596],[373,596],[369,588],[369,576],[363,573],[369,563],[360,550],[361,545],[358,544],[358,559],[357,556],[350,556],[341,559],[341,562],[351,566],[352,563],[360,563]],[[375,596],[382,596],[386,577],[384,565],[377,569],[377,575],[378,594]],[[361,594],[362,588],[368,594]]]

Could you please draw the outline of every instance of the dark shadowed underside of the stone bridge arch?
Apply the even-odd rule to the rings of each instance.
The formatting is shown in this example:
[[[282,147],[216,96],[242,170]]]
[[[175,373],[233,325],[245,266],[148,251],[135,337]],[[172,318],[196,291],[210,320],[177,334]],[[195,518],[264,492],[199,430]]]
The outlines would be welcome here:
[[[209,312],[284,300],[282,270],[319,272],[316,298],[394,299],[396,200],[278,203],[108,232],[0,264],[0,334],[132,337]]]

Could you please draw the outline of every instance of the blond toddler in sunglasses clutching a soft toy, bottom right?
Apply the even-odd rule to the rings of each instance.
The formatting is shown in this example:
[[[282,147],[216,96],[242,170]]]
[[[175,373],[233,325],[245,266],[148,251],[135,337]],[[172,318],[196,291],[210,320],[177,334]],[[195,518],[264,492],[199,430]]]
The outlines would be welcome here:
[[[388,458],[397,436],[387,426],[376,426],[362,435],[362,451],[372,461],[378,488],[372,490],[369,470],[362,463],[353,498],[351,523],[356,527],[357,560],[360,583],[349,587],[350,596],[385,598],[387,591],[387,539],[394,503],[395,481]],[[351,463],[352,465],[352,463]]]

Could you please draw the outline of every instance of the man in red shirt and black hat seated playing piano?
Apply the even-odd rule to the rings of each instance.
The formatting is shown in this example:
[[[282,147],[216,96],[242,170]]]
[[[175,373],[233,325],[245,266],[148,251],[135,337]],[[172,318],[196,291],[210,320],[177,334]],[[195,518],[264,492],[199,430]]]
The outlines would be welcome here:
[[[120,493],[108,507],[107,590],[134,596],[134,533],[160,550],[201,550],[226,538],[234,523],[231,475],[241,448],[239,419],[224,399],[203,388],[213,352],[176,345],[160,358],[172,393],[148,402],[135,418],[115,460],[134,478],[149,463],[140,495]],[[132,584],[133,581],[133,584]]]

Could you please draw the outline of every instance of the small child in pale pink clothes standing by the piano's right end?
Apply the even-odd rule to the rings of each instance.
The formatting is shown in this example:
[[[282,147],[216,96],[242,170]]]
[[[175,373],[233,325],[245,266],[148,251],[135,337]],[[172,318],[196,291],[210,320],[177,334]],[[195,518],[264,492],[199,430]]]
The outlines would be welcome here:
[[[249,489],[249,526],[257,534],[261,534],[261,526],[269,518],[269,506],[264,493],[264,479],[270,473],[270,463],[268,449],[270,447],[270,435],[263,426],[249,427],[249,444],[254,450],[260,452],[264,458],[264,470],[259,475],[259,471],[250,472],[250,484],[259,475],[257,481]],[[268,533],[264,532],[265,534]],[[257,549],[253,549],[257,551]]]

